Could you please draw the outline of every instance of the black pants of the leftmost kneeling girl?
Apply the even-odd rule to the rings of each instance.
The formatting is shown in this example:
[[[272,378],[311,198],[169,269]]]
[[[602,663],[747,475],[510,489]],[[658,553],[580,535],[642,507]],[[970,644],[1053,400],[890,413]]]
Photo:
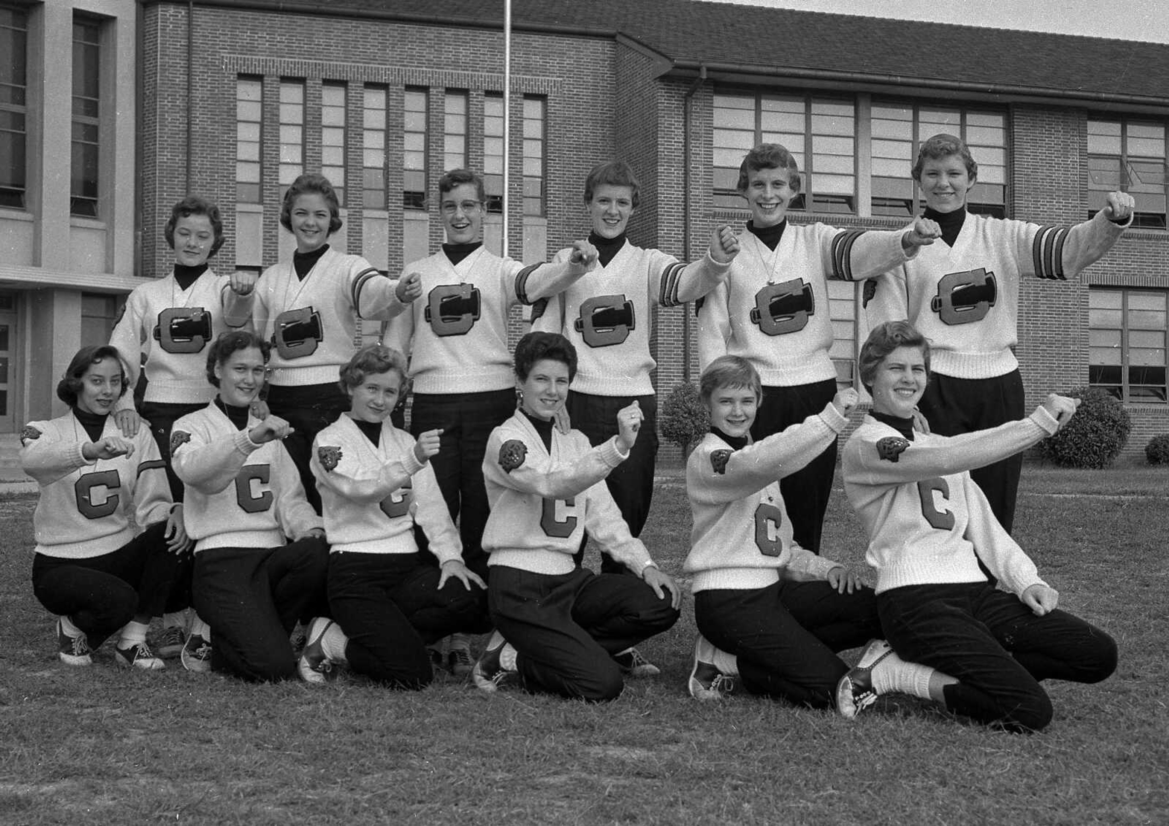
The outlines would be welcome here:
[[[165,534],[166,522],[155,522],[117,550],[87,560],[36,554],[33,594],[50,612],[69,617],[97,648],[136,615],[166,610],[191,556],[167,550]]]

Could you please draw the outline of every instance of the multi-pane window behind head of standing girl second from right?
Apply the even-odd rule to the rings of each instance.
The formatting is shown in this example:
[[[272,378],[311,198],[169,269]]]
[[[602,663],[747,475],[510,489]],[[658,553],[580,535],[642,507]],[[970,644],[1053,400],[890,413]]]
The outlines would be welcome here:
[[[742,207],[739,165],[754,146],[782,144],[801,172],[790,209],[855,214],[856,103],[844,98],[714,95],[714,206]]]

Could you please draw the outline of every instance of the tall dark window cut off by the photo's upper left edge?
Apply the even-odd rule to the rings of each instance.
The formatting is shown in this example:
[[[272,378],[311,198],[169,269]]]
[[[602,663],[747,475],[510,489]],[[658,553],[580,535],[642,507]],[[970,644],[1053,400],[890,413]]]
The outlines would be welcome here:
[[[28,15],[0,6],[0,207],[25,207]]]

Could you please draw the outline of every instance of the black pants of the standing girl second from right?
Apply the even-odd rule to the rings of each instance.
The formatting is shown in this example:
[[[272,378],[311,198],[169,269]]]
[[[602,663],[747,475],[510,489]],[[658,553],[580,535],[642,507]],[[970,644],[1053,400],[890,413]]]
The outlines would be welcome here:
[[[796,387],[765,387],[750,435],[756,442],[798,424],[818,414],[836,395],[836,380],[825,379],[814,384]],[[791,521],[791,534],[801,548],[819,553],[819,537],[824,528],[824,513],[832,495],[832,476],[836,473],[836,442],[824,452],[791,476],[780,479],[783,505]]]

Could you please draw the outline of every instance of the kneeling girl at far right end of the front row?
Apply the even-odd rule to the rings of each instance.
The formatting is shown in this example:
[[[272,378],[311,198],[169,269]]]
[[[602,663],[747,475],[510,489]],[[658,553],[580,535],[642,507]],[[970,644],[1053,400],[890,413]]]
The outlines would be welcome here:
[[[1052,394],[996,428],[920,433],[911,416],[932,381],[925,336],[908,321],[883,324],[859,368],[873,407],[844,447],[844,490],[869,536],[888,643],[871,644],[841,680],[842,713],[855,716],[890,689],[873,666],[899,654],[936,669],[928,696],[947,709],[1011,730],[1044,728],[1052,707],[1039,681],[1104,680],[1116,644],[1057,608],[1059,592],[995,519],[970,470],[1053,435],[1079,401]]]

